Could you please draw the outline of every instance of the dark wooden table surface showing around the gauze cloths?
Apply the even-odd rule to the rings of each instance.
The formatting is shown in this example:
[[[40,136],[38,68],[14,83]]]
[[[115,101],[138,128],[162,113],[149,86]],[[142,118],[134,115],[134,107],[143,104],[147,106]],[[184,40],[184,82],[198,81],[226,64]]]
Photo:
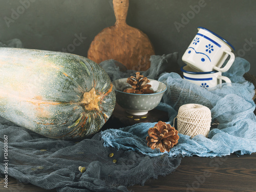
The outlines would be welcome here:
[[[115,115],[116,114],[116,115]],[[139,117],[129,118],[118,106],[115,108],[113,117],[106,127],[118,128],[123,124],[137,123]],[[155,110],[140,118],[139,121],[156,122],[159,118],[167,121],[166,114],[159,115]],[[115,122],[113,124],[113,122]],[[114,127],[116,126],[116,127]],[[23,184],[18,180],[8,177],[8,189],[4,187],[4,180],[0,178],[0,191],[56,191],[46,190],[32,184]],[[158,179],[146,181],[144,186],[134,185],[127,187],[131,191],[256,191],[256,153],[251,155],[237,156],[231,154],[226,157],[184,157],[180,166],[172,174]]]

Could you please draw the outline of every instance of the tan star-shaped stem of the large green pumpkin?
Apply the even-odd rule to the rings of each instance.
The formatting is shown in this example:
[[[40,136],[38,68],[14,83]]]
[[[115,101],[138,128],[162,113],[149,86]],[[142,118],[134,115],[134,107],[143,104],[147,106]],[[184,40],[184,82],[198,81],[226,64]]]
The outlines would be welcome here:
[[[95,88],[91,89],[89,92],[83,93],[80,100],[80,105],[84,107],[87,111],[97,110],[99,111],[98,102],[101,100],[101,96],[96,94]]]

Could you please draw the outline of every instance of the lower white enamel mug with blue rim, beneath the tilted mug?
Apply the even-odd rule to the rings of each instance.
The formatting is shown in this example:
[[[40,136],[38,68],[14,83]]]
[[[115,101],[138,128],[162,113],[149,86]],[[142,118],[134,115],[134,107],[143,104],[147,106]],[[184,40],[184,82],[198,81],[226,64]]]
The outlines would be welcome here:
[[[219,71],[198,72],[189,66],[183,66],[181,71],[183,72],[183,79],[198,84],[198,86],[204,89],[213,88],[218,84],[221,84],[222,80],[231,83],[230,79],[222,76]]]

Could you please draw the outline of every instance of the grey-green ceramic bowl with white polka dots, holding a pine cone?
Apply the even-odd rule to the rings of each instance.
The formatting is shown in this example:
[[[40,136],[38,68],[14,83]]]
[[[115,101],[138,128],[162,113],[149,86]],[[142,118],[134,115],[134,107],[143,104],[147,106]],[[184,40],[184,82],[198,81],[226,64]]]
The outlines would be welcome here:
[[[150,79],[150,83],[148,84],[151,84],[151,89],[154,91],[154,93],[124,93],[124,89],[132,88],[132,86],[127,83],[126,80],[127,78],[117,79],[112,83],[116,92],[116,102],[122,108],[124,108],[127,113],[132,115],[145,115],[148,111],[156,108],[167,89],[166,84],[154,79]]]

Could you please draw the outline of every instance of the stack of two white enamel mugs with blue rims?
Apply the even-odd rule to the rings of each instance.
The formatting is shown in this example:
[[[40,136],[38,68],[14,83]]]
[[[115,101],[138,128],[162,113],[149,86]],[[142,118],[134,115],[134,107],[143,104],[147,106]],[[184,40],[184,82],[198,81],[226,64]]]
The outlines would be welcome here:
[[[198,27],[198,33],[182,56],[186,66],[181,68],[183,78],[198,84],[204,89],[221,84],[222,80],[231,83],[228,77],[222,76],[234,62],[234,47],[216,33]],[[226,65],[224,61],[229,57]]]

